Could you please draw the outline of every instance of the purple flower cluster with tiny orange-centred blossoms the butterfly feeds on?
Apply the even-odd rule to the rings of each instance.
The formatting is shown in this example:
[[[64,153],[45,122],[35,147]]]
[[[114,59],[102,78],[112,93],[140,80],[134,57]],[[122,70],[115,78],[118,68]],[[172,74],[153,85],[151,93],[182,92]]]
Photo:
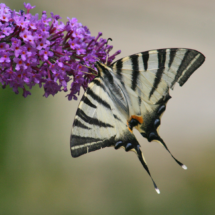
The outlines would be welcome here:
[[[67,92],[67,84],[72,80],[68,99],[77,99],[81,86],[86,90],[95,77],[96,61],[110,64],[117,51],[109,56],[112,46],[106,39],[92,37],[89,29],[76,18],[66,24],[59,22],[59,15],[45,11],[41,19],[38,14],[30,14],[34,8],[25,4],[26,13],[12,11],[0,4],[0,83],[9,85],[23,96],[31,93],[26,89],[39,84],[44,88],[45,97],[58,91]]]

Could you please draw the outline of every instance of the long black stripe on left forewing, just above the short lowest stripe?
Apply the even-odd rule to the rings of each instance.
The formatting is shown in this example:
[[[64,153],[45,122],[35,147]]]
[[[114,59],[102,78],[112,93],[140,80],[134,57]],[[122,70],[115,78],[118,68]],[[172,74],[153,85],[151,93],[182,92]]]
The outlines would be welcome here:
[[[105,127],[105,128],[107,128],[107,127],[113,128],[114,127],[114,126],[112,126],[112,125],[110,125],[108,123],[104,123],[104,122],[102,122],[102,121],[100,121],[98,119],[91,118],[91,117],[87,116],[84,113],[84,111],[82,111],[80,108],[78,108],[76,115],[78,117],[80,117],[84,122],[86,122],[86,123],[88,123],[90,125],[96,125],[96,126]]]

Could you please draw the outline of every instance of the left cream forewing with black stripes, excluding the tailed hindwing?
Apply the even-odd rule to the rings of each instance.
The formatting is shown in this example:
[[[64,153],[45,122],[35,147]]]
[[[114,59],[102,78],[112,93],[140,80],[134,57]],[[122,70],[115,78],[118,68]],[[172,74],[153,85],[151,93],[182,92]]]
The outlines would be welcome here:
[[[106,101],[106,93],[102,94],[102,91],[101,86],[91,82],[80,101],[70,140],[73,157],[110,146],[111,142],[107,140],[116,135],[115,125],[111,123],[113,119],[106,117],[109,115],[112,118],[111,106]],[[103,116],[102,109],[106,112]]]

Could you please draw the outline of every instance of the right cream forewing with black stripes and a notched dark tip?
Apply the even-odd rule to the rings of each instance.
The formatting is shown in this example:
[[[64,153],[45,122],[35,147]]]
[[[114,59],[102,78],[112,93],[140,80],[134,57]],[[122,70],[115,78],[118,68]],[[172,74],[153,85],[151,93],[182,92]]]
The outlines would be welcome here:
[[[182,86],[204,59],[191,49],[160,49],[122,58],[111,67],[129,92],[132,89],[142,100],[157,104],[176,82]]]

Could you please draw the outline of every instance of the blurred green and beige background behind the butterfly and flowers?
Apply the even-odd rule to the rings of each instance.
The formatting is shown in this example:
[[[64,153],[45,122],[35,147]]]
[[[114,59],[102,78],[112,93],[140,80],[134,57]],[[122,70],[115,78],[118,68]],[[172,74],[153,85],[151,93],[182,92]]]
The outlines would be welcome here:
[[[77,101],[63,92],[24,99],[0,89],[0,214],[110,215],[215,214],[215,1],[29,0],[63,21],[76,17],[92,35],[113,39],[121,58],[184,47],[206,62],[171,91],[161,137],[188,166],[182,170],[157,143],[137,134],[158,195],[133,153],[106,148],[74,159],[69,138]],[[4,1],[23,9],[23,1]]]

